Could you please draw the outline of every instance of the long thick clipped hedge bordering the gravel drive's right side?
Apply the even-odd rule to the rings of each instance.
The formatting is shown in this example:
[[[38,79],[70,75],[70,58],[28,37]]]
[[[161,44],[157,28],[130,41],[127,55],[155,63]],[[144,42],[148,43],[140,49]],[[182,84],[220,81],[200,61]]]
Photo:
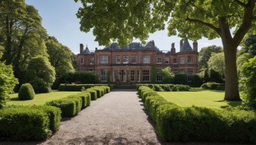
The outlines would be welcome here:
[[[138,89],[142,96],[149,91],[152,89],[146,86]],[[180,107],[151,94],[143,96],[143,101],[163,141],[256,143],[255,113],[233,108]]]

